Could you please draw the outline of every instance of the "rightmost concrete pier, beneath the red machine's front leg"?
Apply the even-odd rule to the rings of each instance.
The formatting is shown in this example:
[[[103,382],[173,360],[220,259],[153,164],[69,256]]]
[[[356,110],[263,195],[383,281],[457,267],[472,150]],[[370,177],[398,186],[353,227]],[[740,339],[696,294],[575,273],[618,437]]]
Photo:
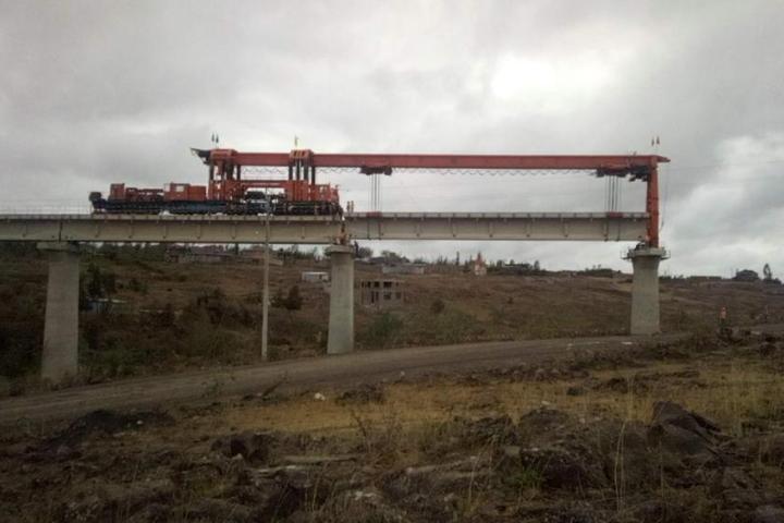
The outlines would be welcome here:
[[[632,335],[656,335],[659,325],[659,262],[666,259],[666,251],[659,247],[630,248],[626,259],[632,262]]]

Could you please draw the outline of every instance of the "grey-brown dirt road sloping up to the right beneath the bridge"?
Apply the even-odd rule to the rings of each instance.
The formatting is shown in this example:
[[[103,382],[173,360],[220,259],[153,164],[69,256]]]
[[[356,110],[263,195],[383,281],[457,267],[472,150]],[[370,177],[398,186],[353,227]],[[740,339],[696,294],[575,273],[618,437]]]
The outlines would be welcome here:
[[[678,335],[665,335],[671,341]],[[653,340],[653,341],[656,341]],[[317,386],[351,386],[428,372],[471,370],[567,357],[575,351],[622,351],[650,343],[650,339],[604,337],[441,345],[359,352],[210,369],[198,373],[128,379],[74,387],[0,401],[0,424],[21,419],[44,421],[77,416],[96,409],[171,406],[185,401],[213,401],[248,394],[281,381],[279,390]]]

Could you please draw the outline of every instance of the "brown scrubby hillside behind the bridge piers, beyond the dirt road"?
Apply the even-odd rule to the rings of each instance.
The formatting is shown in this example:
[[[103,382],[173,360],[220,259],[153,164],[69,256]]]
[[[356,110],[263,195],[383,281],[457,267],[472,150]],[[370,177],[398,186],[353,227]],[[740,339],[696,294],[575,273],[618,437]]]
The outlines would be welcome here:
[[[219,264],[164,262],[149,248],[103,248],[83,256],[81,364],[84,379],[181,368],[237,365],[259,360],[262,271],[228,258]],[[271,267],[270,346],[275,358],[323,353],[329,295],[301,273],[329,271],[327,260],[299,255]],[[630,276],[543,276],[462,271],[395,275],[404,302],[389,311],[363,306],[355,293],[359,350],[469,341],[625,333]],[[4,247],[0,256],[0,375],[17,387],[35,385],[42,336],[46,260],[35,250]],[[381,278],[379,266],[356,265],[356,284]],[[286,308],[297,287],[301,304]],[[784,288],[715,280],[662,280],[662,329],[712,331],[719,308],[731,323],[784,319]],[[105,302],[87,303],[89,295]],[[112,305],[106,308],[109,296]],[[89,307],[101,308],[88,311]]]

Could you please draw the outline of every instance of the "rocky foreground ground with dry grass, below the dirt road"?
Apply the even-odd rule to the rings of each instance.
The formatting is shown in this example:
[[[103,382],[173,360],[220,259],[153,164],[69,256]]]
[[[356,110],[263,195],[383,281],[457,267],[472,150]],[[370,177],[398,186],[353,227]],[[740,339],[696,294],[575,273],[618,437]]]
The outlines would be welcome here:
[[[784,338],[0,433],[3,521],[784,521]]]

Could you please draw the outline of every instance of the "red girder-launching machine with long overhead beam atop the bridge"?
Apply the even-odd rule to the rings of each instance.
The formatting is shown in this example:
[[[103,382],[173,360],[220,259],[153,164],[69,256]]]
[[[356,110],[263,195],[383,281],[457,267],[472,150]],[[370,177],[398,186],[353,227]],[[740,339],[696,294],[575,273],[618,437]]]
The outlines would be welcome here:
[[[274,214],[341,214],[339,194],[329,184],[317,184],[318,168],[354,168],[363,174],[390,174],[393,169],[431,170],[587,170],[598,177],[626,177],[647,183],[648,244],[659,246],[659,163],[669,162],[658,155],[604,156],[513,156],[513,155],[362,155],[315,154],[309,149],[291,153],[240,153],[234,149],[192,149],[209,168],[209,182],[200,185],[171,184],[167,191],[112,186],[109,200],[99,200],[96,210],[133,211],[114,203],[136,200],[168,202],[172,212],[257,212],[270,203],[259,204],[254,192],[278,191],[272,200]],[[286,180],[253,179],[246,168],[287,169]],[[117,190],[115,190],[117,187]],[[173,188],[172,188],[173,187]],[[182,187],[182,188],[180,188]],[[206,194],[205,194],[206,193]],[[185,199],[187,194],[187,199]],[[120,199],[113,199],[117,196]],[[160,199],[159,199],[160,198]],[[105,205],[101,208],[100,202]],[[155,206],[148,207],[150,209]],[[143,210],[144,211],[144,210]],[[612,212],[609,214],[613,215]]]

